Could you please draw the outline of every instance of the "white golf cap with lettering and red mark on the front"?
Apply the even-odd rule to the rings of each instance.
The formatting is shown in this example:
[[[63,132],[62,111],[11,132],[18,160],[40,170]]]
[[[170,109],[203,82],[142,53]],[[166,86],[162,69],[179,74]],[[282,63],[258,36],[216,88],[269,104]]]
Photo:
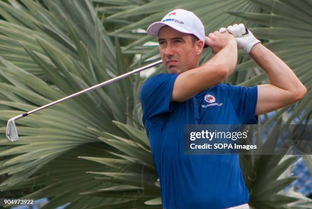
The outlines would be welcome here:
[[[147,34],[158,36],[163,26],[169,26],[179,32],[195,35],[199,40],[205,41],[205,29],[200,19],[193,13],[184,9],[175,9],[159,22],[154,22],[147,28]]]

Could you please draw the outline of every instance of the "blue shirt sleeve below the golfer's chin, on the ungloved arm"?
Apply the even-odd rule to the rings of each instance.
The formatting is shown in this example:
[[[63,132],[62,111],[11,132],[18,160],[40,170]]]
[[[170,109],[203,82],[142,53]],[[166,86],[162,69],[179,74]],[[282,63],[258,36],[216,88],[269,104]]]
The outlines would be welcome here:
[[[149,78],[141,87],[143,123],[155,123],[159,116],[172,111],[171,95],[178,74],[159,74]]]

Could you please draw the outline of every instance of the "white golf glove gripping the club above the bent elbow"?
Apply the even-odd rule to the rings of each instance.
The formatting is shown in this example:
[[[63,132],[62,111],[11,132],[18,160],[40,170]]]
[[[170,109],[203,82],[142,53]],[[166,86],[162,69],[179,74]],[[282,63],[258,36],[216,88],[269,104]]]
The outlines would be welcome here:
[[[244,50],[247,54],[249,54],[254,44],[261,42],[256,39],[249,30],[248,34],[243,35],[246,33],[244,24],[235,24],[233,26],[228,26],[227,29],[220,28],[219,30],[220,33],[224,33],[225,31],[228,31],[235,37],[238,49]]]

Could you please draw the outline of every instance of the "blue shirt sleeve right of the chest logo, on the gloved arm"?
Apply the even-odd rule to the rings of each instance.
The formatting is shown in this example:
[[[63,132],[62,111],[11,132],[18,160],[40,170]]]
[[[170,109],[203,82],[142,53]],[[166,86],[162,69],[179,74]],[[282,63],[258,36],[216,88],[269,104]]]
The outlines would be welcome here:
[[[257,86],[245,87],[228,84],[228,87],[228,95],[240,120],[244,124],[257,123],[257,117],[255,117],[258,97]]]

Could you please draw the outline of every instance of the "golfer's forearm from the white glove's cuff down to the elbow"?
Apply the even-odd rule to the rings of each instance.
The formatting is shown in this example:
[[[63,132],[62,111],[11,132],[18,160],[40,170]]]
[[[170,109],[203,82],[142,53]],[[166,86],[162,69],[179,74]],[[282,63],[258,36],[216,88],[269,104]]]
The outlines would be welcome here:
[[[305,88],[292,69],[261,43],[255,44],[249,55],[263,68],[272,85],[294,92]]]

